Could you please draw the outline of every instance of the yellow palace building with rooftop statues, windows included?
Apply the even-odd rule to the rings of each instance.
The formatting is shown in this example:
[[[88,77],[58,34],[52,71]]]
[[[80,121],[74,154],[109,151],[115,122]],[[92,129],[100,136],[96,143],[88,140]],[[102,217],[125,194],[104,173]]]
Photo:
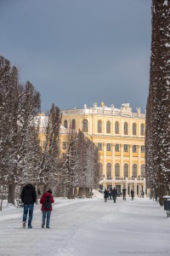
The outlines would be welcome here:
[[[111,108],[101,102],[92,108],[62,110],[62,125],[80,129],[99,148],[99,189],[131,189],[135,196],[145,194],[144,131],[145,114],[133,113],[128,103]],[[62,141],[65,147],[64,141]],[[64,149],[64,148],[63,148]]]

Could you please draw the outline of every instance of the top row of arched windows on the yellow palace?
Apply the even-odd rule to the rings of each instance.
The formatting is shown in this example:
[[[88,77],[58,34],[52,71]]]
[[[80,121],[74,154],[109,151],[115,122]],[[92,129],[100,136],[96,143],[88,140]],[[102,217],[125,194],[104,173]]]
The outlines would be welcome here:
[[[65,128],[68,128],[68,121],[65,120],[64,121],[64,126]],[[102,133],[103,131],[103,124],[102,121],[99,120],[98,121],[98,133]],[[76,120],[72,119],[70,121],[70,128],[71,129],[76,129]],[[133,123],[133,136],[137,135],[137,125],[136,123]],[[88,120],[87,119],[83,119],[82,120],[82,131],[83,132],[88,132]],[[111,121],[107,121],[106,122],[106,133],[111,133]],[[128,131],[128,124],[127,122],[124,123],[123,125],[123,134],[124,135],[128,135],[129,131]],[[120,134],[120,123],[118,121],[116,121],[115,123],[115,134]],[[144,136],[144,124],[140,125],[140,136]]]

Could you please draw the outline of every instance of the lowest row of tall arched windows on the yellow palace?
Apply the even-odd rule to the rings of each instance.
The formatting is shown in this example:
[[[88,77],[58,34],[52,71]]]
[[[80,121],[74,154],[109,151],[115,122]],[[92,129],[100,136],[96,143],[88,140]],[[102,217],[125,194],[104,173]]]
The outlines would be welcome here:
[[[123,166],[123,177],[129,177],[128,165],[124,164]],[[132,177],[137,177],[138,175],[138,166],[133,164]],[[106,165],[106,176],[111,177],[111,163]],[[99,177],[103,177],[103,164],[99,163]],[[115,165],[115,177],[120,177],[120,165],[116,163]],[[140,177],[145,177],[145,165],[140,166]]]

